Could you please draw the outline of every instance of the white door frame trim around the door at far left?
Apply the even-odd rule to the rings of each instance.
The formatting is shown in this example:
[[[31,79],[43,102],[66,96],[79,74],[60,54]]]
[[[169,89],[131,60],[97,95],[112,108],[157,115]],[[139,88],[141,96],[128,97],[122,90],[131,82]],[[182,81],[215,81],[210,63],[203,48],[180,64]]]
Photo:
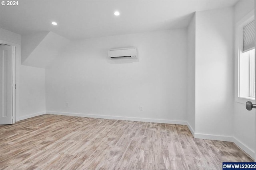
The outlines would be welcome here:
[[[15,46],[15,53],[14,53],[14,58],[15,60],[13,61],[13,82],[16,84],[16,90],[12,92],[12,114],[13,114],[13,120],[12,123],[14,124],[15,122],[19,121],[19,106],[20,106],[20,100],[19,100],[19,70],[20,70],[20,59],[21,59],[21,48],[19,44],[15,44],[12,42],[0,40],[1,44],[6,44],[10,46]]]

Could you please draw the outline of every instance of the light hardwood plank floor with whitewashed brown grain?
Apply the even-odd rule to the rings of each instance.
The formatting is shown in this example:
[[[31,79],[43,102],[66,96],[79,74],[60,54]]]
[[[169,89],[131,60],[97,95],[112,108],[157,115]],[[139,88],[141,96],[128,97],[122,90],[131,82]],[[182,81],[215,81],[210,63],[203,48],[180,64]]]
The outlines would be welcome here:
[[[220,170],[252,161],[184,125],[42,115],[0,126],[0,170]]]

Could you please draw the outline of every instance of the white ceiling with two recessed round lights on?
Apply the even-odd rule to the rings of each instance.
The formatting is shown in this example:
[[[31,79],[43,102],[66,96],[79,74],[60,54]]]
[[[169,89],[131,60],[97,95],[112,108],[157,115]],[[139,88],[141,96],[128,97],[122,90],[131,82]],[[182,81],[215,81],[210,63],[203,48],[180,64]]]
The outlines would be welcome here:
[[[20,0],[18,6],[0,6],[0,28],[18,34],[52,31],[72,40],[168,30],[187,27],[195,11],[234,6],[237,1]],[[120,16],[114,16],[115,10]]]

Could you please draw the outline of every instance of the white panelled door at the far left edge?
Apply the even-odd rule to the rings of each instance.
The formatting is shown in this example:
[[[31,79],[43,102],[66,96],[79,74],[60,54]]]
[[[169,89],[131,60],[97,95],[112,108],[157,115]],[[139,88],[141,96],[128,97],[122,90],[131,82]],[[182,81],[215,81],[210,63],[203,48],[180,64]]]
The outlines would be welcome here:
[[[0,124],[13,121],[13,46],[0,45]]]

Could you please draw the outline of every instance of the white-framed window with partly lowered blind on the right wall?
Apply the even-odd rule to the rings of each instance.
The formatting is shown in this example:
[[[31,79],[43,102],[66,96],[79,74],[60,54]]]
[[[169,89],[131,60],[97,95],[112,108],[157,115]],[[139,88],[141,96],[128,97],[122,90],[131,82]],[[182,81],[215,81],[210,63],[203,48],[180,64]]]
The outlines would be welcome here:
[[[236,101],[255,100],[254,11],[236,24]]]

